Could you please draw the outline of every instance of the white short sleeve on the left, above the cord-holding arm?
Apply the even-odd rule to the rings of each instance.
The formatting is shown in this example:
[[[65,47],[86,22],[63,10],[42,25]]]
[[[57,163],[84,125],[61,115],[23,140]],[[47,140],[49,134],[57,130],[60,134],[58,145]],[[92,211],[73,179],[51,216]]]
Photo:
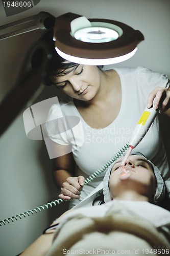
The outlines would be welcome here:
[[[64,111],[64,109],[67,111]],[[44,124],[44,141],[50,158],[55,158],[63,154],[77,150],[84,143],[84,132],[80,117],[70,111],[71,106],[54,104],[48,113]],[[65,146],[65,150],[59,152],[55,150],[59,144]],[[58,151],[58,152],[57,152]]]

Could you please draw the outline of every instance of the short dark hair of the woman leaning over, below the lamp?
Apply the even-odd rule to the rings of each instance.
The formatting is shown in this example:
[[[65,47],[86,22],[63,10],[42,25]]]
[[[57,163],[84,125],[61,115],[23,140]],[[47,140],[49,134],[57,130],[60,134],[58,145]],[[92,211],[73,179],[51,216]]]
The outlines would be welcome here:
[[[54,30],[50,29],[45,31],[40,37],[39,40],[42,40],[47,44],[47,47],[51,54],[51,61],[46,68],[44,81],[43,83],[46,86],[51,86],[57,81],[57,77],[66,75],[73,70],[77,69],[80,64],[66,61],[62,58],[55,49],[55,41],[53,40]],[[37,50],[32,56],[32,68],[35,69],[41,59],[41,52]],[[72,68],[72,69],[71,69]],[[99,69],[102,69],[103,66],[98,66]],[[68,70],[69,69],[69,70]]]

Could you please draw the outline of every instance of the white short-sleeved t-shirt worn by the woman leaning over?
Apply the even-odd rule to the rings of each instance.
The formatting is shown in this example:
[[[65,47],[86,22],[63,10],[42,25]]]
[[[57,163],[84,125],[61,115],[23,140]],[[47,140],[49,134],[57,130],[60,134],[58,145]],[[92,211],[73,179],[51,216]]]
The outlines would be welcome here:
[[[122,104],[118,116],[110,125],[103,129],[91,128],[81,117],[72,98],[68,96],[63,99],[60,106],[52,105],[48,115],[48,120],[61,118],[62,116],[78,118],[75,119],[75,122],[70,123],[69,127],[72,128],[67,129],[66,132],[64,132],[63,127],[61,128],[62,125],[58,127],[59,131],[57,133],[55,132],[55,125],[46,124],[46,130],[52,141],[62,145],[72,144],[72,154],[77,164],[76,176],[82,175],[85,179],[115,156],[131,140],[135,126],[147,104],[150,92],[157,86],[169,87],[166,75],[155,73],[144,67],[115,68],[114,70],[118,73],[121,81]],[[74,117],[72,117],[72,120],[74,120]],[[142,153],[151,160],[161,170],[164,180],[170,180],[169,166],[159,131],[158,117],[155,118],[150,130],[132,153],[135,154],[135,152]],[[99,185],[106,170],[83,187],[80,200]],[[167,182],[166,186],[167,184],[169,183]],[[170,187],[170,184],[168,187]],[[170,192],[170,190],[168,191]],[[75,202],[73,200],[72,205],[78,202],[79,200]]]

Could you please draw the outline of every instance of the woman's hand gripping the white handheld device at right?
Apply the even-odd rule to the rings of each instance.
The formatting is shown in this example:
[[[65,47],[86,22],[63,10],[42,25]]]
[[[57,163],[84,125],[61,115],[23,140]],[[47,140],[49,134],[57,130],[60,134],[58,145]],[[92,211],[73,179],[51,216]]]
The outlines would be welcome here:
[[[156,87],[147,100],[147,108],[151,108],[154,100],[154,109],[159,106],[160,112],[166,112],[170,108],[170,91],[167,88]]]

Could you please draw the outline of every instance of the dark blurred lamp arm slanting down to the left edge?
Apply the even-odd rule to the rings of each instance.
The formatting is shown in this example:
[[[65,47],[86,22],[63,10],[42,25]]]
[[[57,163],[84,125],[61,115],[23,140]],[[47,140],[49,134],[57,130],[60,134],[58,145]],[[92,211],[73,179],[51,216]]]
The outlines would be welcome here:
[[[35,70],[29,68],[28,64],[34,51],[41,51],[41,59]],[[26,61],[27,60],[27,61]],[[37,92],[41,92],[42,78],[45,74],[47,65],[51,60],[51,54],[47,45],[44,42],[39,42],[34,45],[28,52],[25,58],[24,74],[19,75],[16,84],[12,87],[3,101],[0,103],[0,137],[7,130],[9,125],[14,121],[17,115],[21,112],[23,107],[34,98]],[[27,71],[26,71],[27,69]]]

